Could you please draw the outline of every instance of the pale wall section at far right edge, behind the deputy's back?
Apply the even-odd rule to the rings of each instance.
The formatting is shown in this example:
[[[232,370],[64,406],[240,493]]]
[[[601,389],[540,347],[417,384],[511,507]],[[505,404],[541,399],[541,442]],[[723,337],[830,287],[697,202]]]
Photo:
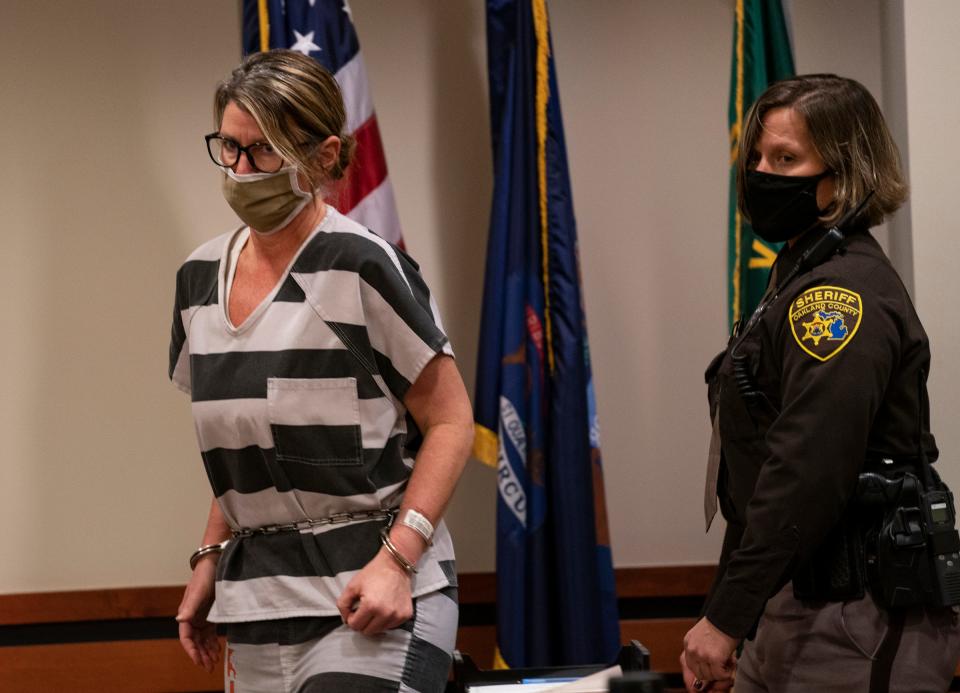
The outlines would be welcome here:
[[[903,2],[914,297],[933,352],[930,401],[932,427],[941,452],[938,466],[954,493],[960,493],[960,426],[954,419],[960,412],[957,27],[960,3]]]

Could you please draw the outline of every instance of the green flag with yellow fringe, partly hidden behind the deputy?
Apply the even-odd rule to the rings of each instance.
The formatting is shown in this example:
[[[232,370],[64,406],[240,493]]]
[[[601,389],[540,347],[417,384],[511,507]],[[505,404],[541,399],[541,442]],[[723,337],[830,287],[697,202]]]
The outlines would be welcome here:
[[[773,82],[793,76],[790,37],[780,0],[737,0],[730,78],[730,243],[727,268],[730,323],[760,302],[782,244],[766,243],[737,211],[737,148],[743,116]]]

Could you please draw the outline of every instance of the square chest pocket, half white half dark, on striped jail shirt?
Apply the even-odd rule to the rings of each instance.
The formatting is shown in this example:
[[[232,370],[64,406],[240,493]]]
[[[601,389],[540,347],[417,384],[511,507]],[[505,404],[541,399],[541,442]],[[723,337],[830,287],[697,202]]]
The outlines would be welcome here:
[[[363,463],[356,378],[268,378],[267,418],[279,462]]]

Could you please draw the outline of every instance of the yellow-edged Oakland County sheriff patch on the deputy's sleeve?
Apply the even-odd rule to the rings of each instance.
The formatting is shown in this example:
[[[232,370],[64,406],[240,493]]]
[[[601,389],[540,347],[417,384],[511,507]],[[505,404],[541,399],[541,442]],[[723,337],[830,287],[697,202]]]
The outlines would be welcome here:
[[[862,317],[860,294],[839,286],[815,286],[790,304],[790,331],[801,349],[828,361],[853,340]]]

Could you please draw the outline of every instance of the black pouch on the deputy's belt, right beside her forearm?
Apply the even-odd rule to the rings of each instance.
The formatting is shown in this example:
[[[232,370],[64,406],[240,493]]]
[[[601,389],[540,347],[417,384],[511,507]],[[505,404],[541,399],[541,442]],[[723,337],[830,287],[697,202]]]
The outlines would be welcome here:
[[[803,601],[847,601],[866,593],[863,529],[848,511],[813,557],[793,575],[793,596]]]

